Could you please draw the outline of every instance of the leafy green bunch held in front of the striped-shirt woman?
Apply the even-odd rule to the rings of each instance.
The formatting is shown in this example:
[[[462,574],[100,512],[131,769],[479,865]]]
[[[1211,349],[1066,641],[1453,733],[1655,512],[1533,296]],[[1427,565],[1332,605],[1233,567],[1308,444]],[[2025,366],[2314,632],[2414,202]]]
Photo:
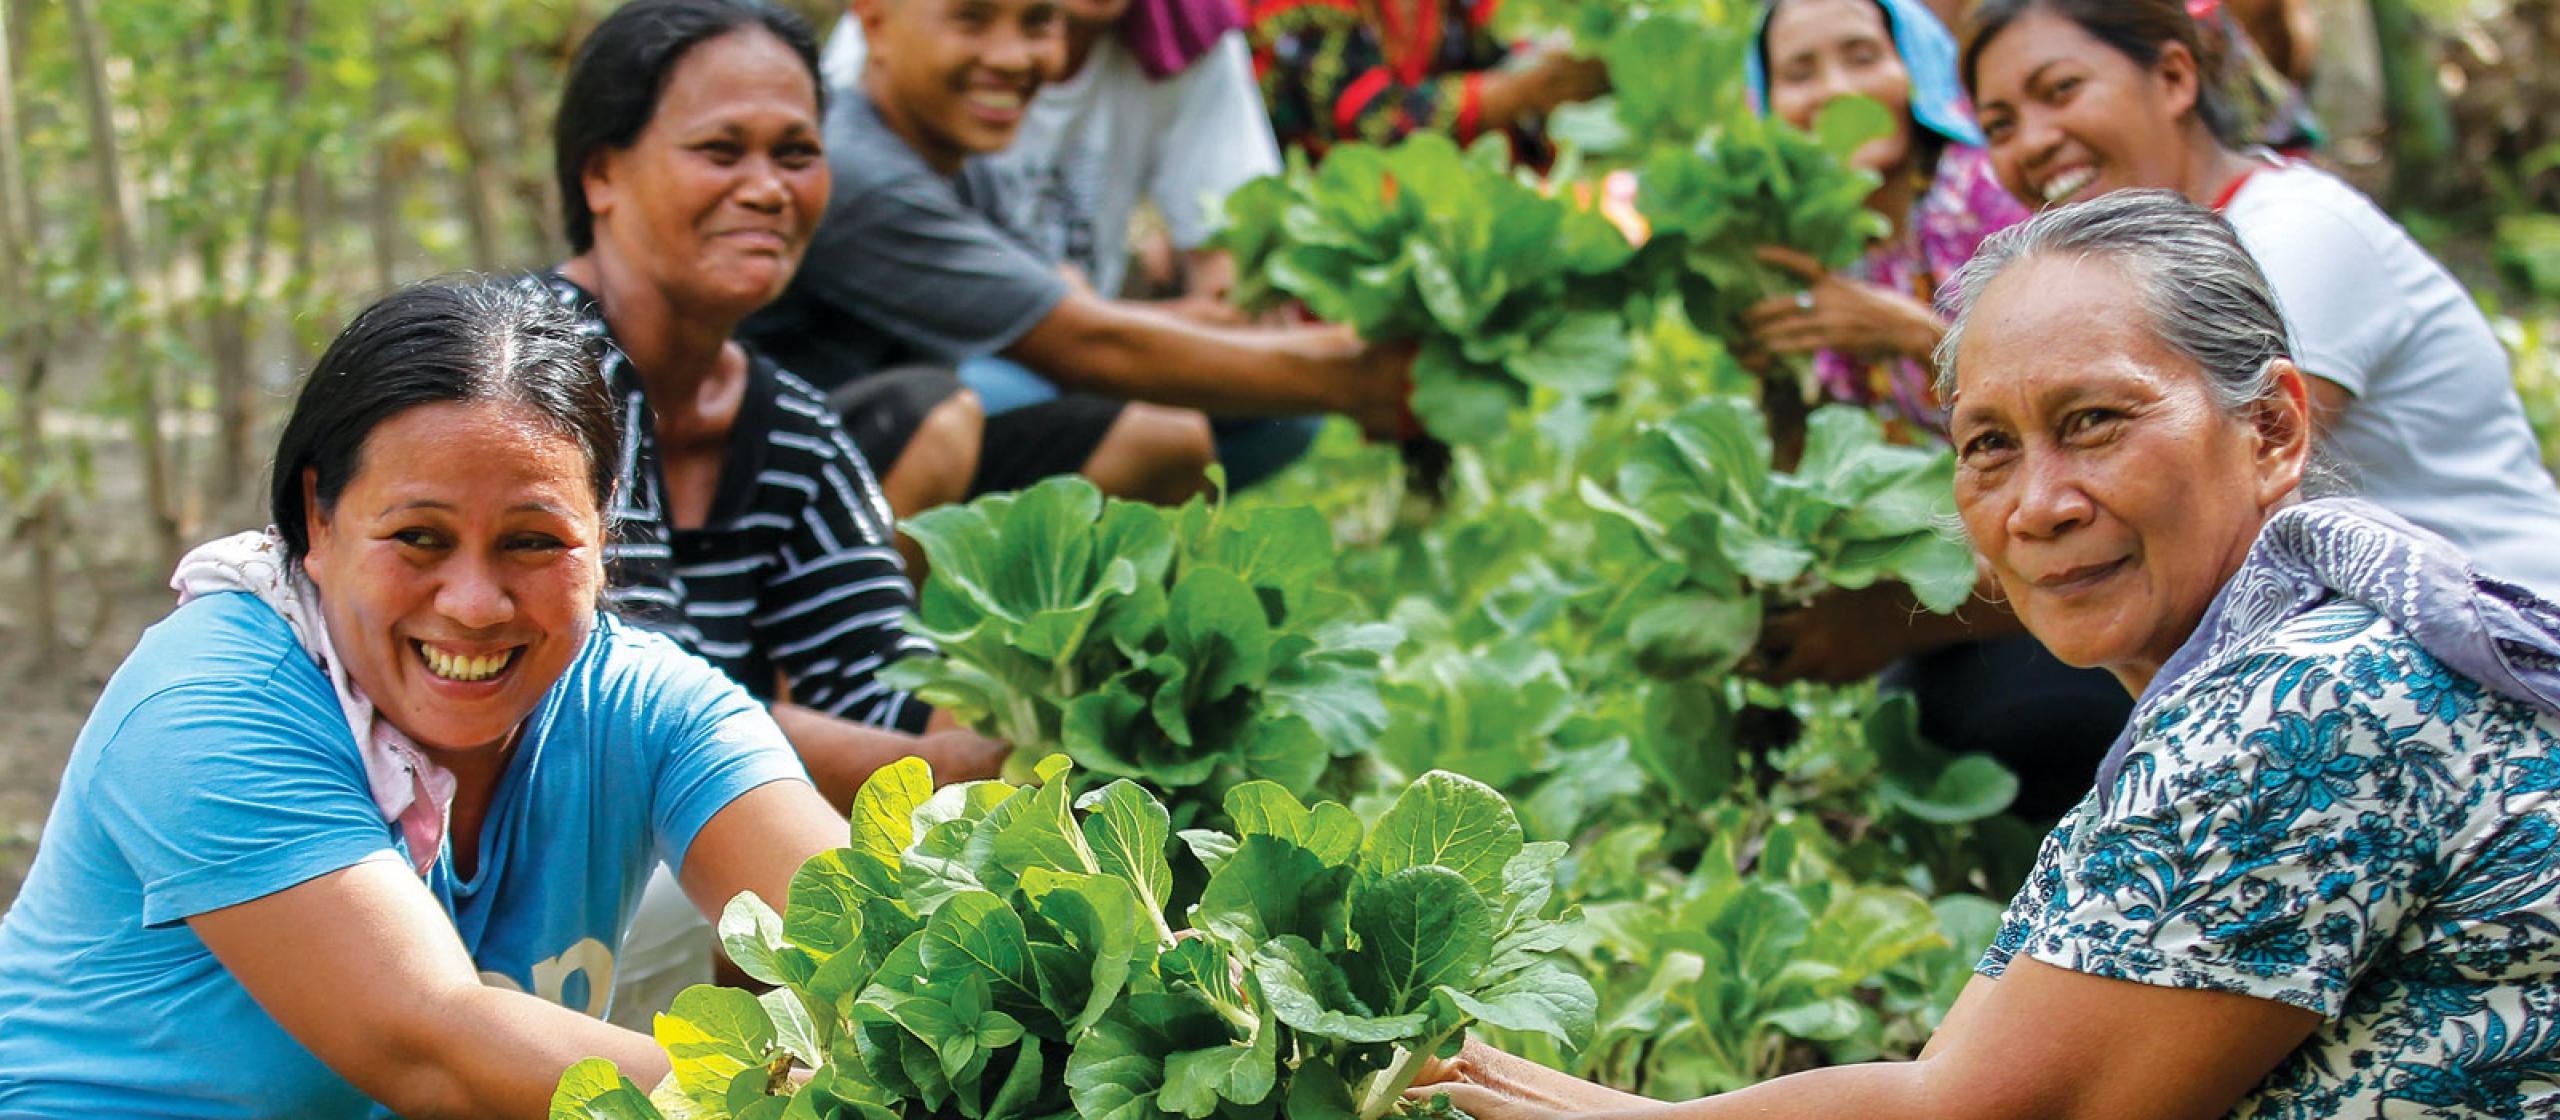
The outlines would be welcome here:
[[[1190,823],[1265,777],[1306,795],[1382,724],[1393,626],[1318,588],[1334,550],[1306,506],[1157,509],[1083,478],[916,517],[932,580],[911,632],[942,657],[883,673],[1014,747],[1134,777]]]

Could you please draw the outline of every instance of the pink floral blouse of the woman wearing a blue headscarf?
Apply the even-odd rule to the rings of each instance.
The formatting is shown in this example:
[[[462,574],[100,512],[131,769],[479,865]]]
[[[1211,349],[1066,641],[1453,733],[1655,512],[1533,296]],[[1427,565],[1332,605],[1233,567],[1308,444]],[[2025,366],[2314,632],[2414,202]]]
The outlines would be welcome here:
[[[1902,222],[1902,235],[1876,243],[1866,258],[1843,268],[1843,276],[1940,307],[1938,286],[1974,258],[1984,238],[2028,217],[2033,217],[2028,207],[2017,205],[1992,174],[1992,156],[1971,143],[1948,143],[1938,156],[1938,174]],[[1897,435],[1910,437],[1920,430],[1946,440],[1946,407],[1930,389],[1933,373],[1925,361],[1823,350],[1812,355],[1812,371],[1830,399],[1869,407]]]

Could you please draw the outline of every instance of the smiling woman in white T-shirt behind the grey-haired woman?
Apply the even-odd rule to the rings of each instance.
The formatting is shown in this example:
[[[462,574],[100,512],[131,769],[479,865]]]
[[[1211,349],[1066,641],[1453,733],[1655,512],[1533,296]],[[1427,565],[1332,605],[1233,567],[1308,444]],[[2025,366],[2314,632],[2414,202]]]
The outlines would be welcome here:
[[[2348,486],[2488,575],[2560,588],[2560,488],[2488,320],[2353,187],[2227,143],[2184,3],[1987,0],[1969,31],[1964,79],[2012,194],[2163,187],[2222,210],[2284,304]]]

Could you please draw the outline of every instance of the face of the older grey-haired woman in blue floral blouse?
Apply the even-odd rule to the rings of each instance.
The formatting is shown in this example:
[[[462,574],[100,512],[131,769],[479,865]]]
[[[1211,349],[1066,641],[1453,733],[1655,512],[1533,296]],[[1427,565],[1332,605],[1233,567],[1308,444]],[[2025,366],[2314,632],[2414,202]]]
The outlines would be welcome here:
[[[2030,258],[1976,299],[1956,350],[1956,506],[2028,632],[2130,690],[2194,634],[2309,453],[2301,373],[2253,419],[2104,258]]]

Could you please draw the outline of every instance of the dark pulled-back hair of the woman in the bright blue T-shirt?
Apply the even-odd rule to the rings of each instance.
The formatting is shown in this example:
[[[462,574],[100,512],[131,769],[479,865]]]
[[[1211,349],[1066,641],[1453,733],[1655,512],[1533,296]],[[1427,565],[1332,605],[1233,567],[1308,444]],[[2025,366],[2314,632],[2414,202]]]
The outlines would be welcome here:
[[[310,524],[302,473],[328,514],[364,465],[381,422],[420,404],[515,401],[586,453],[596,511],[612,506],[622,414],[596,363],[602,345],[538,281],[486,276],[399,289],[338,332],[276,440],[269,511],[284,555],[302,563]]]

